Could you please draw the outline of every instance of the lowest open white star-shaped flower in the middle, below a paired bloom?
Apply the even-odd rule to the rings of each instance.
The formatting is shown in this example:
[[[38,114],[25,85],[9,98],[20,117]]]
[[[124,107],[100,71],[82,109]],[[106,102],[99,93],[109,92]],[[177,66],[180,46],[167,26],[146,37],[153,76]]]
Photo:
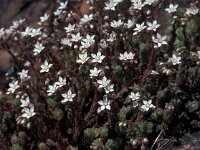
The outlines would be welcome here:
[[[101,111],[107,109],[107,110],[111,110],[111,101],[108,100],[107,96],[104,95],[103,96],[103,100],[98,101],[98,104],[100,105],[100,107],[98,108],[97,112],[100,113]]]

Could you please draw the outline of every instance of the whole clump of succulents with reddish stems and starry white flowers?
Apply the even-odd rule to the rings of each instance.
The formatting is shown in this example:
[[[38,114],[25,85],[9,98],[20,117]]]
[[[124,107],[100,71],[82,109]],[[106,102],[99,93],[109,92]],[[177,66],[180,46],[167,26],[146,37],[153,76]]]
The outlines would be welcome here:
[[[198,126],[198,1],[88,0],[84,15],[58,3],[37,27],[0,29],[11,149],[147,149]]]

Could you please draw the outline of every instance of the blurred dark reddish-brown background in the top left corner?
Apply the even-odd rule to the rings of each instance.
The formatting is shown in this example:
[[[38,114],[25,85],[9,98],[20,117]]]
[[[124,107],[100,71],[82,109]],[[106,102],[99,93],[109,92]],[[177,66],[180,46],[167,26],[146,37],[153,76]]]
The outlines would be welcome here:
[[[23,18],[26,18],[28,25],[35,26],[40,16],[53,11],[55,4],[56,0],[1,0],[0,27]]]

